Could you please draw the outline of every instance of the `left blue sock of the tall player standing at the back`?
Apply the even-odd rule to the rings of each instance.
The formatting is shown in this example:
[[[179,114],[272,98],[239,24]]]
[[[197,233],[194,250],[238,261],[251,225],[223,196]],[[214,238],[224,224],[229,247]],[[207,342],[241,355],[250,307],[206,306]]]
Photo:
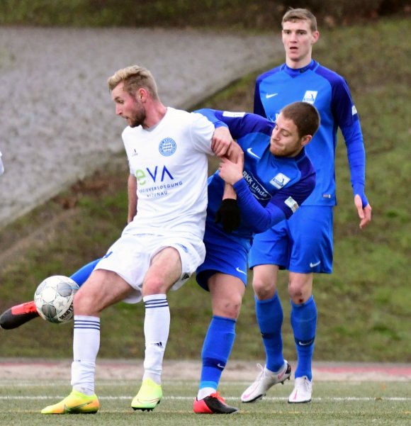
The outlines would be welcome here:
[[[257,323],[260,328],[264,348],[266,349],[266,366],[270,371],[278,371],[284,364],[283,337],[283,307],[278,293],[271,299],[259,301],[255,298]]]

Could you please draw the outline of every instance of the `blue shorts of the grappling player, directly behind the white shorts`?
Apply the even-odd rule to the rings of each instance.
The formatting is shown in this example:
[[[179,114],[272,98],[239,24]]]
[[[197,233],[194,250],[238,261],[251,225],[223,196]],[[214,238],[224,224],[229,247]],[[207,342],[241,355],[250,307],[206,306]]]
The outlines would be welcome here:
[[[208,291],[207,281],[217,272],[237,276],[247,286],[247,257],[251,241],[205,225],[205,259],[197,268],[196,281]]]

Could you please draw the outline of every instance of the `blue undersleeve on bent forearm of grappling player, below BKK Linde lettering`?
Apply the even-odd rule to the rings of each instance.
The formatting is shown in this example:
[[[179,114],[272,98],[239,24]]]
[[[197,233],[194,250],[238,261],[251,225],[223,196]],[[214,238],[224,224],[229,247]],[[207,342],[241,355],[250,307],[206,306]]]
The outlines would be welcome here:
[[[269,203],[264,208],[252,195],[246,181],[240,179],[234,185],[237,193],[237,201],[240,206],[242,218],[253,224],[253,231],[264,232],[281,220],[286,219],[286,215],[274,203]]]

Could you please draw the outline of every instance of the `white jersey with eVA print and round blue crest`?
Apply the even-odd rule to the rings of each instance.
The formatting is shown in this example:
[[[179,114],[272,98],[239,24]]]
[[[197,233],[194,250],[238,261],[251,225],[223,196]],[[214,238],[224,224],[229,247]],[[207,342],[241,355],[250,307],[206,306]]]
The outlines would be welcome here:
[[[203,239],[213,132],[201,114],[174,108],[150,129],[125,128],[130,173],[137,179],[137,214],[123,234]]]

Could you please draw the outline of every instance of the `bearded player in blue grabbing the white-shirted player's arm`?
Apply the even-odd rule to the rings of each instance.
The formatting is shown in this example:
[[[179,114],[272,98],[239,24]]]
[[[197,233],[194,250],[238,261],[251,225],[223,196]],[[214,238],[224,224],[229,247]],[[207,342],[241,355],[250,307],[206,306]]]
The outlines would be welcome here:
[[[315,134],[320,117],[305,102],[283,108],[276,123],[248,113],[198,112],[214,123],[225,123],[244,152],[244,170],[240,162],[223,159],[218,172],[208,179],[206,254],[196,275],[198,284],[210,291],[213,318],[201,353],[201,381],[193,411],[230,414],[237,408],[227,405],[217,388],[235,340],[252,239],[256,232],[290,218],[313,191],[315,172],[304,147]],[[233,224],[231,213],[235,201],[225,198],[221,203],[225,184],[232,185],[237,194],[238,224]],[[282,370],[278,382],[291,374],[286,362]]]

